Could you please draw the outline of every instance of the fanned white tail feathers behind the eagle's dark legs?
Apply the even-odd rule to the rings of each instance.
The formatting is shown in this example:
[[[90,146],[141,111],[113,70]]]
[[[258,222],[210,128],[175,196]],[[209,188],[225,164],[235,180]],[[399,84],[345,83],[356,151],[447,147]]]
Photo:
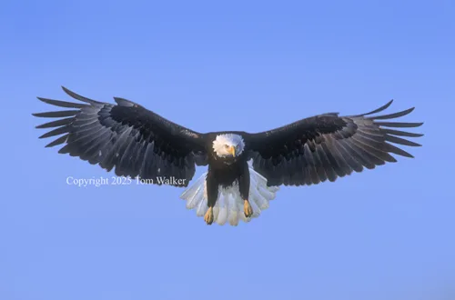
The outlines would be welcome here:
[[[197,216],[203,216],[207,212],[206,177],[207,172],[180,195],[180,198],[187,201],[188,209],[196,209]],[[240,196],[236,183],[227,188],[219,187],[217,203],[213,207],[214,222],[225,225],[228,221],[230,225],[238,225],[238,220],[249,222],[252,217],[258,217],[262,210],[268,208],[268,201],[275,199],[279,187],[267,186],[267,179],[258,174],[251,165],[249,178],[249,204],[253,208],[253,215],[249,218],[244,215],[244,199]]]

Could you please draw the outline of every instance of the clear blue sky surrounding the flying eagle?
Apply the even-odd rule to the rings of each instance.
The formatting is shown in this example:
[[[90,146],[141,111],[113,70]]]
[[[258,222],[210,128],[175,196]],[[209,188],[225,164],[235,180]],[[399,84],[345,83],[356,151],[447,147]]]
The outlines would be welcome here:
[[[453,1],[163,3],[2,3],[0,299],[454,299]],[[37,139],[35,96],[60,85],[200,132],[393,98],[426,135],[415,159],[207,226],[181,189],[66,185],[112,174]]]

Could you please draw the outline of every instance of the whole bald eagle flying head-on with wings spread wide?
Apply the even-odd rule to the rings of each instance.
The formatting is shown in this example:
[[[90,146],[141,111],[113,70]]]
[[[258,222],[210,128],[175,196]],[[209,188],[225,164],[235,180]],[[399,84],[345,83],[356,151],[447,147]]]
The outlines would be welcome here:
[[[180,196],[207,225],[238,225],[268,208],[279,185],[317,185],[373,169],[397,160],[390,154],[413,157],[396,145],[420,146],[403,137],[419,137],[393,128],[423,123],[391,122],[408,115],[315,115],[273,130],[197,133],[168,121],[132,101],[115,97],[116,105],[86,98],[63,87],[82,103],[38,97],[69,110],[33,114],[57,118],[36,128],[55,128],[40,138],[61,135],[46,147],[64,146],[60,154],[78,156],[117,176],[140,178],[155,185],[187,187],[197,165],[207,165]],[[373,116],[374,115],[374,116]],[[392,143],[392,144],[390,144]]]

